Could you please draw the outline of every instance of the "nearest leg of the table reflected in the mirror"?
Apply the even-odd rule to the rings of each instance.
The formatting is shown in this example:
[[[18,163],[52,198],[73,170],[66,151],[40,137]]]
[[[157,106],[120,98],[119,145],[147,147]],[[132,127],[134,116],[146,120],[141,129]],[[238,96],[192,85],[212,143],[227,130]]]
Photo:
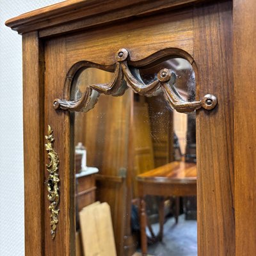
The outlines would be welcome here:
[[[140,198],[140,237],[141,237],[142,256],[147,256],[146,225],[147,225],[146,203],[144,198]]]

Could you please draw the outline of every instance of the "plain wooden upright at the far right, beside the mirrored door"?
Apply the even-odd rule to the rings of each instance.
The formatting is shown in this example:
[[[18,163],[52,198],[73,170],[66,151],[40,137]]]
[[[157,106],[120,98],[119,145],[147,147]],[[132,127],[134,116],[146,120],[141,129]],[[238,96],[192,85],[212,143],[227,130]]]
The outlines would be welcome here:
[[[256,250],[255,8],[234,0],[236,255]]]

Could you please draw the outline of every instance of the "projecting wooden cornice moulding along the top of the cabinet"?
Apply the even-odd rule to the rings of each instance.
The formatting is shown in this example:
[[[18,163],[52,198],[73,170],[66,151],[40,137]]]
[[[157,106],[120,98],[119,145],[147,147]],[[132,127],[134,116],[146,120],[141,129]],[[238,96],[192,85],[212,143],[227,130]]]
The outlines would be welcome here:
[[[202,1],[210,0],[68,0],[24,13],[5,24],[19,34],[39,31],[39,36],[45,37]]]

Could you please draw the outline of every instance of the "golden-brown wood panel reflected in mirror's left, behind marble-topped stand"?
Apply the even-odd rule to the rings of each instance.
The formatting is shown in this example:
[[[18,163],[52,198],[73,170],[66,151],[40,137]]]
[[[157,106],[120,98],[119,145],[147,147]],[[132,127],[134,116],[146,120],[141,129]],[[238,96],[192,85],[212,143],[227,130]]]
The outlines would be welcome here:
[[[95,83],[108,83],[113,73],[88,68],[76,77],[76,88],[84,92]],[[87,150],[87,165],[99,168],[104,175],[118,175],[127,167],[127,145],[131,96],[100,95],[99,102],[88,113],[76,113],[76,143]]]

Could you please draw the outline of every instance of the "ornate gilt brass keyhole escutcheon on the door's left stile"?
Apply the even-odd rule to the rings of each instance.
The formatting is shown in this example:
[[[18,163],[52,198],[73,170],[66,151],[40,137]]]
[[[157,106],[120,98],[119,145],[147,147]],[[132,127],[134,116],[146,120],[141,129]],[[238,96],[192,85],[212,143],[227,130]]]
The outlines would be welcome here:
[[[47,182],[47,198],[50,202],[49,211],[51,212],[51,236],[54,239],[56,234],[56,228],[58,224],[58,215],[60,209],[58,209],[58,204],[60,201],[59,188],[58,183],[60,182],[58,175],[58,165],[59,165],[59,157],[56,151],[53,148],[54,137],[52,135],[52,129],[50,125],[48,125],[47,135],[45,139],[47,143],[45,144],[45,148],[47,150],[47,156],[50,159],[50,163],[46,164],[47,171],[49,172]]]

